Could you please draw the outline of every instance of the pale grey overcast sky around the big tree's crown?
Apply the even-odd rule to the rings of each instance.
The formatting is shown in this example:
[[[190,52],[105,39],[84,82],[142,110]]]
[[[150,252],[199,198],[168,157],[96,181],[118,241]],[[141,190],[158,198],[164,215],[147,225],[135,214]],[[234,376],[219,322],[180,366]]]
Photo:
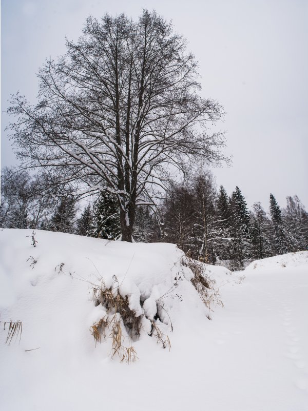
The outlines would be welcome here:
[[[199,61],[202,96],[224,107],[233,165],[213,170],[218,185],[266,211],[271,192],[281,207],[297,194],[308,209],[307,0],[1,0],[2,111],[17,91],[35,102],[38,68],[89,14],[137,18],[143,7],[172,19]],[[2,114],[1,167],[15,163],[7,122]]]

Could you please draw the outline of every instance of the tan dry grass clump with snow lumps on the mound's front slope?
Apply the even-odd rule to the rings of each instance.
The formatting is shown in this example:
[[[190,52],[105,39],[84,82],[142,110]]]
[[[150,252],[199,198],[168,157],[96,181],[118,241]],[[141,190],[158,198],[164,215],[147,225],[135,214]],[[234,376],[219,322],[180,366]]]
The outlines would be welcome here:
[[[93,285],[93,301],[101,314],[101,318],[90,328],[95,345],[101,342],[101,336],[105,340],[107,336],[111,337],[111,357],[117,354],[121,361],[134,361],[138,357],[130,342],[139,340],[141,331],[144,330],[149,336],[155,337],[163,348],[169,347],[170,349],[169,337],[161,327],[161,325],[170,325],[173,331],[170,316],[164,306],[164,299],[176,297],[182,301],[182,297],[174,293],[180,281],[182,278],[177,274],[173,285],[157,299],[144,298],[140,295],[140,310],[130,307],[131,294],[120,292],[119,281],[115,275],[110,286],[106,286],[103,279],[100,286]],[[128,346],[125,345],[125,341],[129,342]]]

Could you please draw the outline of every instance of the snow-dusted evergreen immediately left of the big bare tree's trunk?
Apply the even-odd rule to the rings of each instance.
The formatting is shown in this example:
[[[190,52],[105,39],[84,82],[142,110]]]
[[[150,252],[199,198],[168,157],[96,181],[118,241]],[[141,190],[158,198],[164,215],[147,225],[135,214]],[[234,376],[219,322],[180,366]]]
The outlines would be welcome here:
[[[120,208],[117,197],[102,192],[94,206],[94,230],[91,236],[114,240],[121,235]]]

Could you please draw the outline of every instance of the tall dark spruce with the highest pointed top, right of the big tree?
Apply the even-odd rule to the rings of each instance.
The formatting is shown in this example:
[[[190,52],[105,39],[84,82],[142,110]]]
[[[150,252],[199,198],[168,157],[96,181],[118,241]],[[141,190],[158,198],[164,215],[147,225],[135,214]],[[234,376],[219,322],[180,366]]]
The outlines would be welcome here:
[[[233,268],[243,268],[244,261],[251,256],[251,234],[249,231],[249,212],[247,203],[239,187],[230,198]]]

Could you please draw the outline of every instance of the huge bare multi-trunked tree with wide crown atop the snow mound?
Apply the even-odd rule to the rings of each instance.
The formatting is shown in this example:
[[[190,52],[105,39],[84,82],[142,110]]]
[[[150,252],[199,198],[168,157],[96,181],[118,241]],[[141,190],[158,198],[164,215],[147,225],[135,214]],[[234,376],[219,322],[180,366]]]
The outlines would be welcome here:
[[[89,17],[78,42],[38,73],[39,101],[20,94],[8,112],[24,167],[48,167],[80,195],[117,195],[122,240],[131,241],[136,206],[154,204],[168,172],[192,157],[219,162],[222,116],[198,96],[197,63],[186,41],[156,12]]]

